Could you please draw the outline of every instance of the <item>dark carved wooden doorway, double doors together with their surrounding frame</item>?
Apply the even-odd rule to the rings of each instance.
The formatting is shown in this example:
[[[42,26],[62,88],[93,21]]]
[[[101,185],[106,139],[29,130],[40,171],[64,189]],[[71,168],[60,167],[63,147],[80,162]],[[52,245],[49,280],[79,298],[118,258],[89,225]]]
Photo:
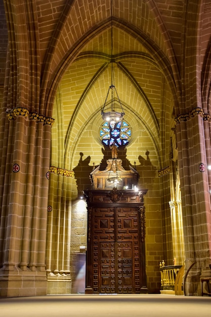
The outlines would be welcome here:
[[[107,205],[105,197],[104,202]],[[96,201],[88,209],[86,293],[146,291],[143,207],[125,203],[95,205]]]

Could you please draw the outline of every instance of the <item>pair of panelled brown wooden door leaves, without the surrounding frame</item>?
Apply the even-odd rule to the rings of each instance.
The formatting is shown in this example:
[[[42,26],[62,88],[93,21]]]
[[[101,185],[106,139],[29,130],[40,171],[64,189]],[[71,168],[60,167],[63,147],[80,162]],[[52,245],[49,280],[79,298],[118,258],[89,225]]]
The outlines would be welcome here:
[[[93,217],[94,293],[139,293],[137,208],[95,208]]]

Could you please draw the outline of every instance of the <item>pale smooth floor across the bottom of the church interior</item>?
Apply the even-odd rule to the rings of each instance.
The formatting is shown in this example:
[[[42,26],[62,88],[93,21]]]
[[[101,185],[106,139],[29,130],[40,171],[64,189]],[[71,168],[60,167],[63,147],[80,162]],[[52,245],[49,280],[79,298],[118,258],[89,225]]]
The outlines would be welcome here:
[[[1,317],[208,317],[211,297],[48,295],[0,298]]]

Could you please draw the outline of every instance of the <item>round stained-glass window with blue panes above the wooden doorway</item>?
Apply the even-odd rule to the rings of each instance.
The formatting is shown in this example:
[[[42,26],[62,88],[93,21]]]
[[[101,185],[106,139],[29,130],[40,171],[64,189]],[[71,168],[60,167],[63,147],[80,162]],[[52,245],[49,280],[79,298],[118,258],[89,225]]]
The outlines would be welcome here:
[[[124,120],[115,124],[114,129],[105,122],[100,127],[100,139],[106,145],[111,145],[113,142],[117,147],[126,145],[131,139],[131,127]]]

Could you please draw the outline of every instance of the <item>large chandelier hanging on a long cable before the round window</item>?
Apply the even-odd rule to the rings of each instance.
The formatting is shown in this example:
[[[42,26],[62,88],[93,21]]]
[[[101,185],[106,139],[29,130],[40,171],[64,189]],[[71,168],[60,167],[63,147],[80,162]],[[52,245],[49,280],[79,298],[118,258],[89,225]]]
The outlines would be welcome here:
[[[106,100],[105,100],[104,106],[103,106],[103,108],[102,108],[102,110],[101,110],[101,115],[102,115],[103,120],[104,120],[105,122],[108,122],[108,123],[109,123],[109,125],[110,125],[112,131],[114,130],[116,123],[122,121],[123,116],[124,116],[124,111],[123,111],[123,108],[122,108],[122,105],[121,105],[119,96],[118,96],[118,94],[117,94],[116,88],[115,88],[115,86],[113,85],[113,82],[114,82],[114,67],[113,67],[113,21],[112,21],[112,0],[111,0],[111,85],[109,86],[108,93],[107,93],[107,96],[106,96]],[[109,93],[111,94],[111,110],[105,112],[104,109],[105,109],[105,106],[106,106],[106,101],[107,101],[107,98],[108,98]],[[116,94],[116,96],[117,96],[116,102],[119,104],[119,108],[121,108],[121,112],[115,111],[115,109],[114,109],[114,101],[115,101],[114,94]]]

